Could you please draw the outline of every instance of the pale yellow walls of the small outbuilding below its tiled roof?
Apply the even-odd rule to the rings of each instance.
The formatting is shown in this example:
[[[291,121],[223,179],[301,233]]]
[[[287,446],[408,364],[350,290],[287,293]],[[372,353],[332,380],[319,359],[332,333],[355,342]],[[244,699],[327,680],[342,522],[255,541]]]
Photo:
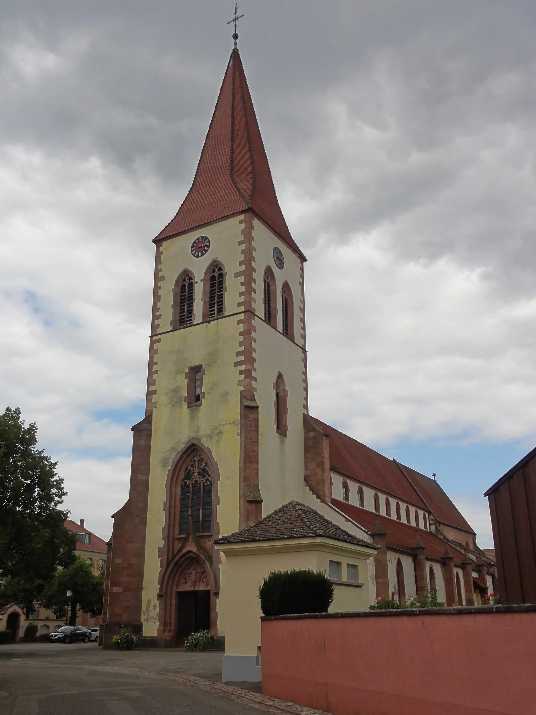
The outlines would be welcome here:
[[[258,601],[259,585],[270,571],[313,568],[328,573],[328,562],[339,561],[359,568],[362,586],[335,586],[329,611],[364,611],[369,607],[367,561],[372,549],[325,538],[289,539],[278,542],[217,546],[225,552],[226,588],[220,596],[224,616],[225,654],[254,656],[261,645],[262,612]]]

